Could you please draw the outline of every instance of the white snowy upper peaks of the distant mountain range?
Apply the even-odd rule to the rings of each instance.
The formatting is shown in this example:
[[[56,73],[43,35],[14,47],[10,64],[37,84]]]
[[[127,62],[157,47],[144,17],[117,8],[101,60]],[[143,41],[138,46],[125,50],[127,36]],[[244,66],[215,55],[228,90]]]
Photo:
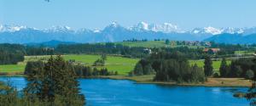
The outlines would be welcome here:
[[[94,32],[94,33],[100,33],[102,31],[109,31],[113,29],[121,28],[122,30],[126,29],[129,31],[154,31],[154,32],[163,32],[163,33],[190,33],[195,35],[200,34],[211,34],[211,35],[218,35],[223,33],[229,33],[229,34],[253,34],[256,33],[256,27],[252,28],[214,28],[212,26],[204,27],[204,28],[195,28],[191,31],[183,31],[180,29],[177,25],[173,25],[171,23],[163,23],[163,24],[148,24],[146,22],[140,22],[137,25],[133,25],[131,27],[125,28],[119,25],[116,21],[113,21],[110,25],[105,27],[105,29],[95,29],[95,30],[87,30],[87,29],[79,29],[78,31],[74,31],[69,26],[52,26],[49,29],[44,30],[38,30],[36,28],[29,28],[23,25],[0,25],[0,32],[9,31],[9,32],[15,32],[20,30],[26,30],[26,29],[32,29],[32,30],[38,30],[38,31],[44,31],[44,32]],[[120,30],[120,29],[119,29]]]

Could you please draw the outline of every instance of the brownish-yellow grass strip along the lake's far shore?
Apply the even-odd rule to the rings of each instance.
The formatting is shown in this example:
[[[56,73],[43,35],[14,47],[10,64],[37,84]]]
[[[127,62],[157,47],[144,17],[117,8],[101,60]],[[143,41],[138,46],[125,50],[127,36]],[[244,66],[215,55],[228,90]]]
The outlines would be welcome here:
[[[137,75],[137,76],[125,76],[125,75],[110,75],[102,76],[102,78],[110,78],[114,80],[131,80],[137,81],[137,83],[150,83],[161,85],[178,85],[178,86],[251,86],[252,82],[245,80],[244,78],[207,78],[204,83],[177,83],[175,81],[153,81],[154,75]]]

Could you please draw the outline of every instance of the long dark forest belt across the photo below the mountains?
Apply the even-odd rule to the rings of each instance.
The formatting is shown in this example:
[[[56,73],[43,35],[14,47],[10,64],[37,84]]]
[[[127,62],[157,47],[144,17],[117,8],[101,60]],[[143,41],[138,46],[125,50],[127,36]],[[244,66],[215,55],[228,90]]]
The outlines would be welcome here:
[[[227,56],[235,56],[237,50],[254,50],[251,45],[228,45],[212,42],[211,47],[218,47],[218,53],[205,53],[201,47],[153,47],[149,48],[152,53],[165,52],[181,52],[187,59],[204,59],[204,55],[212,55],[214,58],[223,58]],[[84,44],[61,44],[57,47],[31,47],[20,44],[0,44],[0,64],[16,64],[23,60],[23,56],[29,55],[56,55],[70,53],[86,53],[86,54],[114,54],[128,58],[145,58],[149,54],[145,53],[147,47],[128,47],[113,42],[107,43],[84,43]]]

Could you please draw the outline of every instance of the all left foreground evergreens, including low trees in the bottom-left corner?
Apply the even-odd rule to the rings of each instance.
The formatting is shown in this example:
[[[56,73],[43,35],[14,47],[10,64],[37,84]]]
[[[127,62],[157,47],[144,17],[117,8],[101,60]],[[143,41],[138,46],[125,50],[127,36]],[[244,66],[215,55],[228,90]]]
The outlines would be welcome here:
[[[84,95],[79,92],[79,82],[72,64],[60,56],[51,57],[47,63],[30,63],[26,67],[28,81],[22,94],[14,89],[3,90],[0,105],[84,106]]]

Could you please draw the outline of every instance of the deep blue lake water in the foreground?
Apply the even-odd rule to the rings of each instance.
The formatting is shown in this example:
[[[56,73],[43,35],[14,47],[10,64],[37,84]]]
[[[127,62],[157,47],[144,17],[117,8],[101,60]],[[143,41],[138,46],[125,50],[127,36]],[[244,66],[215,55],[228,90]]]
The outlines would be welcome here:
[[[8,81],[0,77],[0,81]],[[23,77],[9,81],[21,90]],[[246,92],[247,87],[160,86],[135,84],[134,81],[80,79],[81,92],[88,106],[247,106],[245,98],[234,98],[234,92]]]

